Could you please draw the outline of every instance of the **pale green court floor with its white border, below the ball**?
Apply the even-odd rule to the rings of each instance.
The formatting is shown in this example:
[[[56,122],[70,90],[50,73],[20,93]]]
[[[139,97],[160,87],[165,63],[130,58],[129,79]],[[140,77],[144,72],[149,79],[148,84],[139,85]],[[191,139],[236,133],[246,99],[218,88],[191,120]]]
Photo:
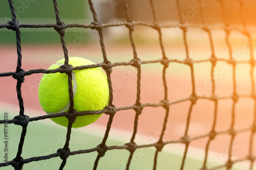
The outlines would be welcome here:
[[[12,119],[14,113],[18,111],[18,108],[1,103],[1,116],[3,117],[4,113],[8,113],[8,118]],[[18,112],[17,112],[18,113]],[[40,113],[37,110],[26,109],[25,113],[30,117],[33,117],[35,113],[38,115]],[[41,112],[43,115],[44,112]],[[20,138],[22,128],[20,126],[9,124],[8,125],[8,160],[12,160],[17,152],[17,146]],[[95,148],[102,140],[105,127],[102,125],[92,124],[80,129],[72,129],[71,140],[70,140],[70,150],[85,150]],[[2,142],[0,144],[0,153],[4,156],[4,125],[1,125],[0,136]],[[27,135],[25,138],[25,143],[23,147],[22,157],[24,159],[30,157],[44,156],[56,153],[59,148],[65,143],[67,129],[61,126],[56,125],[51,120],[39,120],[35,122],[30,122],[27,129]],[[111,135],[107,140],[107,145],[124,145],[129,142],[130,133],[121,131],[118,129],[111,129]],[[149,136],[143,136],[137,134],[137,144],[145,144],[145,139],[149,139]],[[179,148],[179,145],[174,145],[173,147],[164,147],[163,151],[160,152],[158,157],[157,169],[180,169],[180,164],[183,156],[183,149]],[[202,160],[200,160],[199,150],[193,149],[193,154],[188,154],[186,158],[185,168],[186,170],[190,169],[200,169],[202,167]],[[153,160],[154,160],[155,148],[141,148],[137,149],[130,169],[152,169]],[[211,159],[212,165],[216,163],[223,163],[221,160],[221,154],[215,159]],[[93,169],[94,161],[96,159],[97,152],[73,155],[68,158],[67,164],[64,169]],[[105,156],[102,157],[99,161],[97,169],[125,169],[127,159],[129,158],[129,151],[127,150],[109,150],[105,153]],[[202,157],[203,158],[203,157]],[[34,169],[58,169],[61,163],[59,157],[34,161],[24,165],[24,169],[34,170]],[[210,166],[210,164],[209,164]],[[233,170],[243,169],[242,168],[232,168]],[[1,167],[1,169],[13,169],[12,166]],[[225,169],[225,168],[220,168]]]

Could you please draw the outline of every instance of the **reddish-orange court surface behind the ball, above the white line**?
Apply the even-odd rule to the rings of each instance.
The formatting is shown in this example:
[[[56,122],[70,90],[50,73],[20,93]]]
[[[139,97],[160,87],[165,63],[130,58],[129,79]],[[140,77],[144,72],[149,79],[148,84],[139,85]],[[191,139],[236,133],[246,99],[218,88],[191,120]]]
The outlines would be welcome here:
[[[156,60],[161,58],[159,48],[154,46],[141,45],[137,47],[138,56],[142,61]],[[31,69],[44,68],[47,69],[52,63],[61,59],[58,56],[61,54],[61,45],[23,45],[23,69],[25,71]],[[106,53],[108,59],[114,62],[130,61],[133,59],[132,49],[129,45],[106,45]],[[203,51],[202,54],[203,55]],[[57,54],[57,55],[56,55]],[[168,55],[168,54],[167,54]],[[182,53],[177,58],[182,57]],[[15,70],[16,67],[16,49],[15,46],[1,46],[0,47],[0,72],[8,72]],[[61,56],[61,55],[60,55]],[[100,63],[101,54],[99,45],[81,45],[69,54],[69,56],[79,56],[92,60],[95,63]],[[163,100],[164,90],[162,82],[162,65],[157,64],[143,64],[141,73],[141,103],[160,103]],[[232,83],[230,79],[230,67],[221,63],[218,69],[223,68],[224,72],[217,72],[216,78],[216,93],[220,96],[231,95]],[[247,66],[248,67],[248,66]],[[249,69],[244,66],[243,71]],[[195,78],[196,89],[201,95],[209,96],[211,93],[211,86],[209,83],[209,69],[210,64],[195,64]],[[218,70],[217,69],[217,70]],[[248,73],[247,73],[248,74]],[[136,82],[137,72],[132,66],[113,67],[111,74],[114,101],[113,104],[118,107],[131,106],[136,101]],[[37,94],[37,87],[40,82],[42,74],[33,74],[25,77],[25,83],[22,84],[22,95],[24,99],[25,113],[26,109],[35,109],[42,111]],[[250,93],[250,84],[246,80],[246,76],[240,76],[238,82],[238,92],[242,94]],[[164,134],[164,140],[179,140],[184,136],[188,110],[190,106],[191,95],[191,78],[189,68],[184,64],[169,64],[167,69],[167,87],[168,100],[170,102],[177,102],[170,106],[169,117]],[[16,99],[16,80],[11,77],[2,78],[0,83],[1,89],[4,93],[0,96],[0,102],[18,106]],[[203,91],[202,91],[203,90]],[[18,107],[17,107],[18,108]],[[218,102],[217,108],[217,123],[216,131],[226,131],[230,128],[232,115],[232,100],[223,99]],[[236,116],[234,117],[234,129],[243,130],[250,128],[252,125],[254,103],[251,99],[239,99],[236,106]],[[18,113],[18,110],[17,110]],[[38,116],[38,115],[29,115]],[[161,132],[165,110],[162,107],[145,107],[142,114],[139,116],[138,134],[147,136],[145,143],[157,142]],[[123,110],[116,113],[112,128],[124,130],[132,135],[134,126],[135,111]],[[102,115],[94,124],[106,126],[109,116]],[[189,137],[203,136],[208,134],[212,128],[214,120],[214,103],[210,100],[198,99],[196,105],[193,107],[189,122]],[[54,123],[52,123],[54,124]],[[90,125],[89,125],[90,126]],[[232,154],[234,157],[244,158],[248,155],[250,131],[241,132],[235,136]],[[190,146],[199,148],[203,151],[206,147],[208,137],[193,140]],[[218,134],[217,137],[210,144],[210,151],[220,153],[219,160],[224,161],[227,158],[229,149],[230,135]],[[127,141],[128,142],[128,141]],[[255,142],[255,141],[254,141]],[[144,143],[144,144],[145,144]],[[184,148],[183,148],[184,149]],[[183,150],[182,149],[182,150]],[[181,150],[181,153],[182,153]],[[189,152],[189,150],[188,150]],[[255,149],[253,150],[255,153]],[[222,158],[223,157],[223,158]],[[203,159],[203,157],[201,158]]]

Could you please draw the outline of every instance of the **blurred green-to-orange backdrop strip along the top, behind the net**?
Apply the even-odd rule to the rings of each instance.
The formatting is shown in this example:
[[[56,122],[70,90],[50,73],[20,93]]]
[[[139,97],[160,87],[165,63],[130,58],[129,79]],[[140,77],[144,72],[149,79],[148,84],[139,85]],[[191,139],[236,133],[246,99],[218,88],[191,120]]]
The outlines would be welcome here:
[[[207,24],[209,26],[224,26],[224,20],[222,18],[221,6],[218,1],[205,0],[202,1],[202,6],[199,6],[197,0],[183,0],[181,2],[182,7],[182,20],[187,23],[202,23],[202,18],[200,15],[201,8],[205,10]],[[94,7],[97,11],[97,16],[102,23],[111,23],[117,21],[126,21],[126,14],[124,10],[124,5],[122,0],[97,0],[94,1]],[[155,3],[156,13],[160,23],[179,23],[180,18],[178,15],[177,3],[176,1],[160,0]],[[1,2],[0,11],[0,22],[6,23],[11,20],[10,9],[8,7],[7,1]],[[247,26],[254,26],[254,10],[255,3],[253,1],[248,1],[245,3],[245,21]],[[77,0],[75,3],[71,1],[61,1],[58,2],[59,11],[61,14],[61,20],[65,23],[90,23],[92,21],[92,14],[87,1]],[[51,1],[38,1],[38,0],[20,0],[15,1],[17,19],[21,23],[55,23],[55,13],[52,7]],[[38,8],[40,7],[40,8]],[[153,15],[150,7],[150,2],[147,0],[129,1],[130,15],[134,21],[144,21],[152,22]],[[225,1],[225,15],[228,20],[229,25],[242,26],[242,20],[240,16],[240,3],[239,1]],[[141,31],[143,30],[143,31]],[[29,44],[55,44],[59,43],[59,36],[56,34],[54,29],[38,28],[38,29],[24,29],[21,28],[20,31],[23,33],[23,43]],[[111,42],[128,42],[126,29],[123,27],[106,28],[105,39],[110,38]],[[152,43],[158,40],[157,34],[155,36],[147,34],[151,32],[152,29],[143,26],[136,26],[134,32],[135,39],[138,40],[137,43]],[[166,30],[163,29],[165,32]],[[154,32],[154,31],[152,31]],[[97,42],[97,39],[93,35],[97,34],[95,31],[89,29],[77,29],[70,28],[67,30],[65,35],[66,42],[73,42],[74,35],[82,34],[86,36],[87,39],[84,43],[90,44]],[[10,38],[12,32],[7,29],[1,29],[0,42],[2,43],[14,43],[15,39]],[[198,35],[198,34],[197,34]],[[172,36],[172,38],[169,38]],[[164,34],[164,38],[168,43],[174,43],[177,41],[175,36],[178,37],[177,29],[172,31],[172,29],[167,29]],[[195,36],[195,34],[194,34]],[[107,42],[110,42],[109,39]],[[176,44],[176,43],[175,43]]]

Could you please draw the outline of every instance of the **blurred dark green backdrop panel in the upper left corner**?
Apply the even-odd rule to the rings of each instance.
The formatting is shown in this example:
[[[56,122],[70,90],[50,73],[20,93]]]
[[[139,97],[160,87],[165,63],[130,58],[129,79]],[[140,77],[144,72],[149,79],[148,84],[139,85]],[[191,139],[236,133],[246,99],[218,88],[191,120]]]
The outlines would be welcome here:
[[[56,23],[54,6],[52,1],[21,0],[14,1],[16,17],[20,23]],[[88,3],[78,0],[76,3],[63,0],[58,2],[61,21],[65,23],[84,23],[88,18]],[[70,11],[70,12],[66,12]],[[11,19],[8,1],[0,2],[0,24],[7,23]],[[23,43],[58,43],[59,35],[51,29],[20,29]],[[75,36],[87,37],[86,31],[81,29],[69,29],[65,36],[66,42],[73,42]],[[15,43],[12,30],[0,30],[0,43]],[[11,38],[10,38],[11,37]],[[87,41],[87,40],[86,40]]]

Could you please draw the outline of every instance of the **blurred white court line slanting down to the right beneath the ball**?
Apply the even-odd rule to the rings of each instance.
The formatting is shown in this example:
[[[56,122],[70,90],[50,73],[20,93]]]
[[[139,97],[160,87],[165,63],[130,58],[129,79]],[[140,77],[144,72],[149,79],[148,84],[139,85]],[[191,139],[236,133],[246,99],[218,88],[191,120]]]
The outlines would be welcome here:
[[[0,108],[1,110],[11,112],[11,113],[16,112],[18,114],[18,111],[19,111],[19,108],[18,108],[17,105],[12,105],[12,104],[8,104],[8,103],[0,102],[0,107],[1,107]],[[46,114],[44,111],[39,111],[39,110],[35,110],[35,109],[30,109],[30,108],[25,108],[25,112],[28,112],[30,117]],[[44,121],[41,121],[40,123],[50,124],[51,126],[60,127],[59,125],[53,123],[52,120],[50,120],[50,119],[45,119]],[[72,129],[72,131],[77,131],[77,132],[80,132],[80,133],[100,137],[100,136],[102,136],[102,134],[100,132],[105,131],[105,129],[106,129],[105,126],[94,123],[94,124],[91,124],[87,127]],[[147,136],[147,135],[137,133],[135,140],[136,140],[136,143],[146,144],[145,139],[148,139],[148,138],[149,138],[149,136]],[[120,130],[120,129],[112,127],[111,128],[111,135],[109,136],[109,139],[127,143],[131,139],[131,132]],[[152,149],[155,150],[154,147],[152,147]],[[196,159],[196,160],[199,160],[199,161],[203,161],[202,158],[204,158],[204,153],[205,153],[204,149],[189,146],[188,150],[189,150],[187,152],[187,157],[188,158],[193,158],[193,159]],[[178,156],[183,156],[183,151],[184,151],[184,144],[181,144],[181,143],[167,144],[163,148],[163,152],[170,153],[170,154],[176,154]],[[221,159],[218,160],[218,162],[221,162],[221,165],[225,164],[227,159],[223,159],[223,154],[226,154],[226,153],[219,153],[219,152],[210,151],[209,154],[208,154],[209,155],[208,160],[216,160],[216,159],[218,160],[218,158],[221,158]],[[236,159],[236,157],[233,157],[233,158]],[[234,167],[240,168],[241,170],[242,169],[249,169],[248,168],[249,167],[249,161],[240,162],[239,164],[236,163],[236,164],[234,164]],[[253,170],[256,170],[255,166],[254,166]]]

